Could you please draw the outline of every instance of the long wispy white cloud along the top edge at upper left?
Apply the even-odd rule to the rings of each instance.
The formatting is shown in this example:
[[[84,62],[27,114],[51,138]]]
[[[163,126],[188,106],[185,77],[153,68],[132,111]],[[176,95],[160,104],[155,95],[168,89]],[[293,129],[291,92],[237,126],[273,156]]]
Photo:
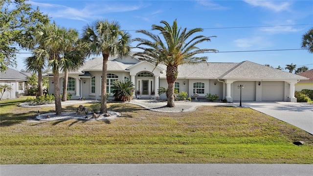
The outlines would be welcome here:
[[[52,3],[39,3],[29,1],[34,6],[39,6],[41,11],[48,13],[53,18],[65,18],[72,20],[88,21],[87,19],[94,19],[101,14],[112,12],[127,12],[138,10],[142,5],[124,5],[120,3],[115,4],[89,4],[82,9],[67,7],[65,5]]]

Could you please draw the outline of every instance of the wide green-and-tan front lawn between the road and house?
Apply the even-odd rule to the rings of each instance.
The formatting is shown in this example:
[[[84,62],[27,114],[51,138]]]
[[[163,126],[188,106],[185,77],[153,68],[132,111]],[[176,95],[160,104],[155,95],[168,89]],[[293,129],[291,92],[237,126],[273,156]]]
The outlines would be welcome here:
[[[109,103],[121,117],[29,121],[54,107],[16,106],[23,100],[0,101],[0,164],[313,163],[313,135],[251,109],[158,113]],[[292,144],[298,140],[306,143]]]

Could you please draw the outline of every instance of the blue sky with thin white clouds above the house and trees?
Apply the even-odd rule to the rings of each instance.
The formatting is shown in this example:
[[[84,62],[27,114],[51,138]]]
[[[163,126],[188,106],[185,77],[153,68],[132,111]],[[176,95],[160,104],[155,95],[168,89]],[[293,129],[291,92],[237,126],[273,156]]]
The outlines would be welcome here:
[[[313,0],[30,0],[28,3],[33,8],[38,6],[51,22],[75,28],[80,34],[84,26],[95,20],[114,20],[132,38],[147,38],[136,30],[151,30],[153,24],[161,25],[160,21],[172,24],[177,19],[182,28],[201,27],[203,32],[197,35],[212,36],[211,42],[198,45],[219,51],[202,54],[208,56],[209,63],[251,61],[274,68],[285,68],[292,63],[313,69],[313,54],[301,49],[302,35],[313,27]],[[17,70],[24,69],[23,59],[27,56],[30,54],[18,55]]]

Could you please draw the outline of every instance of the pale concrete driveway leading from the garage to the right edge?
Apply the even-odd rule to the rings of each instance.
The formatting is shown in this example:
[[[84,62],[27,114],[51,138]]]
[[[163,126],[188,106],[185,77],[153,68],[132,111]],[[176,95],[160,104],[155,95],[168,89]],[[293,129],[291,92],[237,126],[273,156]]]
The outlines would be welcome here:
[[[312,103],[243,102],[243,106],[268,114],[313,134]]]

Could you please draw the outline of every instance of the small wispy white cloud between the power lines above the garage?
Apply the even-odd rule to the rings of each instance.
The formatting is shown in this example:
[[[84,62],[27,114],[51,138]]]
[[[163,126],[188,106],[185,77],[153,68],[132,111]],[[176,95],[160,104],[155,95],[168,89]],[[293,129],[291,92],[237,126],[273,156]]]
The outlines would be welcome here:
[[[272,45],[270,42],[266,41],[264,37],[252,37],[237,39],[234,41],[235,45],[240,48],[264,48]]]

